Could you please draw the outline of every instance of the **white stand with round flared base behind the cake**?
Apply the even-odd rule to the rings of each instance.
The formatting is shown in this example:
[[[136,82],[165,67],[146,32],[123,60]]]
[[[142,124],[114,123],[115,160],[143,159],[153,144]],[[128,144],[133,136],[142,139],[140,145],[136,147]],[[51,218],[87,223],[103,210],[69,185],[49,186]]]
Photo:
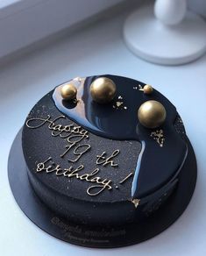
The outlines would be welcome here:
[[[183,64],[206,52],[206,22],[187,11],[186,0],[156,0],[126,19],[124,40],[142,59]]]

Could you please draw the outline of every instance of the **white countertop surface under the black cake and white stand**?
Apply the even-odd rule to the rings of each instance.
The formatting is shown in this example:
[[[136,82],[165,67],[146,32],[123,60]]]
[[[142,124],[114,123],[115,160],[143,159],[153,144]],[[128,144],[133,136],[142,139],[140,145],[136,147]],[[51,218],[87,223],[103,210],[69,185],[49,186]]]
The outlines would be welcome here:
[[[1,62],[0,255],[206,255],[206,55],[178,67],[140,60],[124,46],[127,15],[128,10],[120,11]],[[181,114],[198,164],[192,201],[167,231],[139,245],[106,250],[70,245],[41,231],[18,208],[7,178],[11,143],[39,98],[69,78],[100,74],[138,79],[167,96]]]

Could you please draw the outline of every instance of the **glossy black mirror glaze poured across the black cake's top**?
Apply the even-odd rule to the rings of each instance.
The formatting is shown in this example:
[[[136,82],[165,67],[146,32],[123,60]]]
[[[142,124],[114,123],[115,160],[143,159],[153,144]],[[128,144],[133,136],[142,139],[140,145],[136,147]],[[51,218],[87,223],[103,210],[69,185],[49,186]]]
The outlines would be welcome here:
[[[58,110],[89,132],[109,139],[132,139],[141,142],[142,152],[139,158],[137,155],[131,197],[142,199],[171,181],[181,170],[187,157],[188,146],[174,129],[177,112],[174,105],[157,90],[154,89],[152,95],[145,95],[140,91],[139,84],[144,86],[143,82],[117,75],[101,76],[109,77],[117,85],[117,96],[112,103],[98,104],[92,101],[89,86],[100,76],[90,76],[77,86],[78,103],[62,100],[60,86],[54,90],[53,100]],[[119,99],[119,96],[123,99]],[[156,129],[146,129],[139,124],[137,112],[139,106],[147,100],[159,101],[167,110],[166,121],[160,127],[165,137],[162,147],[150,136]],[[123,104],[117,109],[114,107],[116,102]]]

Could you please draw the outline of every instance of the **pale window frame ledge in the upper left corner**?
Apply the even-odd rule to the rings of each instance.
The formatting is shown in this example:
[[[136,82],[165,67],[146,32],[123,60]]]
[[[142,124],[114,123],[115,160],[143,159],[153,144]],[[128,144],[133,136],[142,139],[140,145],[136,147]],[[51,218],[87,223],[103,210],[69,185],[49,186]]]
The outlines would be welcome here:
[[[0,58],[75,25],[121,1],[0,1]]]

